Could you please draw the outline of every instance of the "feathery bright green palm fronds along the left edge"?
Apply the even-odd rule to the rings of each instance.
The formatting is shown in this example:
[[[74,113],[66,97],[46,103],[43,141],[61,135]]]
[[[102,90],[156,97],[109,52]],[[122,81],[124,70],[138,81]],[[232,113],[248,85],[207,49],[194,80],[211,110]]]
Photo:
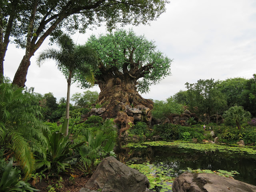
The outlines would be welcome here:
[[[39,100],[23,90],[9,78],[0,84],[0,148],[8,150],[9,157],[14,154],[28,178],[35,171],[34,154],[46,158],[43,132],[48,128],[38,120],[42,115]]]

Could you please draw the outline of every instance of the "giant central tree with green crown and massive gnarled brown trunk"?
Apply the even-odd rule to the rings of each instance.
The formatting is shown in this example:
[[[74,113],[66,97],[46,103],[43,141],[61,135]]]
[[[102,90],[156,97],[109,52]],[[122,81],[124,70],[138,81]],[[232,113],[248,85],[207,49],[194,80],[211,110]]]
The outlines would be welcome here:
[[[98,38],[91,36],[88,44],[97,50],[100,57],[95,76],[101,90],[99,104],[107,104],[109,111],[113,111],[116,102],[122,102],[124,106],[153,107],[152,101],[142,98],[138,91],[148,92],[151,84],[170,75],[172,62],[156,50],[153,41],[136,36],[132,30],[117,30]],[[86,87],[86,82],[82,84]]]

